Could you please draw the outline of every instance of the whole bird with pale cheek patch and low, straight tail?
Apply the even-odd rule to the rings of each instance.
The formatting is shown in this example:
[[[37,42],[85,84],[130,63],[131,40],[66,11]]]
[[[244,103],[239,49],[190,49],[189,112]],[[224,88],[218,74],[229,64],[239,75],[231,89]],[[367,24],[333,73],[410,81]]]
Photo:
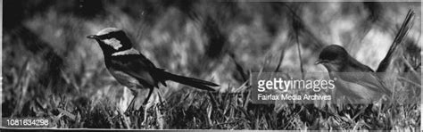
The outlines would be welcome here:
[[[129,87],[132,91],[134,98],[129,103],[125,113],[134,111],[134,103],[140,96],[138,95],[139,89],[149,89],[149,94],[144,101],[144,103],[147,103],[153,94],[154,87],[158,88],[159,83],[167,87],[166,80],[209,91],[214,91],[215,89],[212,87],[219,86],[209,81],[183,77],[157,68],[153,62],[150,62],[143,54],[133,48],[129,37],[121,29],[102,29],[97,34],[87,36],[87,38],[93,38],[97,41],[103,50],[107,70],[121,85]]]

